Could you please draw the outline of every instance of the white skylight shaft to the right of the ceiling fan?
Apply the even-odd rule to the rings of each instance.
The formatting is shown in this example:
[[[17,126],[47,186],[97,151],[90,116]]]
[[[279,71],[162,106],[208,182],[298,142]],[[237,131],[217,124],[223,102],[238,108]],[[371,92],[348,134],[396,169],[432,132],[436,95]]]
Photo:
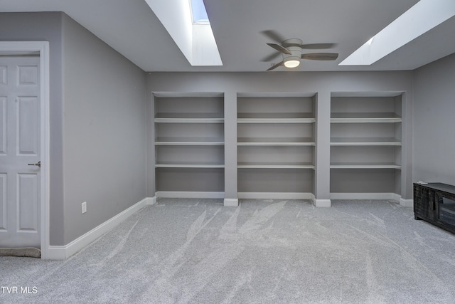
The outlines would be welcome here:
[[[339,65],[371,65],[453,16],[454,0],[421,0]]]

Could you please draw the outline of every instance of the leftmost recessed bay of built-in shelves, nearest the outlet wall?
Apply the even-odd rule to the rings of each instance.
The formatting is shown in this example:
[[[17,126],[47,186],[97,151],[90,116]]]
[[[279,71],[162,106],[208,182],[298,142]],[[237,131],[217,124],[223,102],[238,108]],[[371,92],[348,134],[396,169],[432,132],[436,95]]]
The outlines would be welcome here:
[[[154,113],[156,191],[223,197],[223,93],[154,93]]]

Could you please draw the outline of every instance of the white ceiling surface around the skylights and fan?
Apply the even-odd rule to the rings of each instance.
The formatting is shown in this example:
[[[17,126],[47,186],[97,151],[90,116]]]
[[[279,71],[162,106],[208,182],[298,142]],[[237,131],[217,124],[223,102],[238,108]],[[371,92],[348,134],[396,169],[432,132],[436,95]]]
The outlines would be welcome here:
[[[338,63],[417,1],[204,0],[223,61],[217,67],[192,67],[144,0],[0,0],[0,11],[64,11],[146,71],[267,70],[281,58],[262,61],[274,53],[266,43],[276,43],[266,30],[304,43],[336,43],[323,50],[339,53],[336,61],[303,61],[293,70],[413,70],[455,53],[455,17],[373,65]]]

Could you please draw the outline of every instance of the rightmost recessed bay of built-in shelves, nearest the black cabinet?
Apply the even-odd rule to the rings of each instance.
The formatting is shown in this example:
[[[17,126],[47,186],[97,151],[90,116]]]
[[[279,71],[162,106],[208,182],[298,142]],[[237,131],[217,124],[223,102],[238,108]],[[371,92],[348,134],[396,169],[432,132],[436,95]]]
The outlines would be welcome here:
[[[333,93],[331,193],[400,194],[400,93]]]

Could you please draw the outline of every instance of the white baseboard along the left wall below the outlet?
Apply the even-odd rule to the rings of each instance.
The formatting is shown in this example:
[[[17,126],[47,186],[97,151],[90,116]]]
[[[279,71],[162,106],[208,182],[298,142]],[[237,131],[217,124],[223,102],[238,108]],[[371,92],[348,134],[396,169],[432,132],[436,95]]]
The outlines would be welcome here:
[[[127,219],[129,216],[132,216],[132,214],[135,214],[144,206],[149,205],[150,202],[152,201],[153,198],[142,199],[137,204],[134,204],[128,209],[120,212],[116,216],[112,217],[111,219],[108,219],[104,223],[88,231],[86,234],[78,237],[77,239],[68,243],[65,246],[49,246],[48,256],[46,258],[49,260],[65,260],[65,258],[73,256],[73,254],[77,253],[77,251],[80,251],[82,248],[92,243],[92,241],[95,241],[100,236],[102,236],[103,234],[105,234],[118,224],[122,223],[122,221]]]

